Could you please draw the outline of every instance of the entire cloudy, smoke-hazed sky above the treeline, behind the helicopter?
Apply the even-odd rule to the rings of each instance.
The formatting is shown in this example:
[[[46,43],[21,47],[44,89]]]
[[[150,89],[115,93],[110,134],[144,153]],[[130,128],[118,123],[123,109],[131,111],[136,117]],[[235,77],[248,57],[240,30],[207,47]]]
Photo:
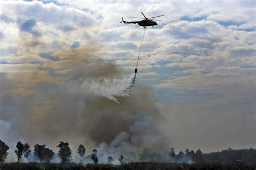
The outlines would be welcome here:
[[[119,148],[126,134],[134,150],[158,139],[177,151],[256,147],[255,1],[0,3],[0,139],[11,148],[18,140]],[[140,12],[164,16],[146,28],[136,84],[123,94],[144,28],[120,21]]]

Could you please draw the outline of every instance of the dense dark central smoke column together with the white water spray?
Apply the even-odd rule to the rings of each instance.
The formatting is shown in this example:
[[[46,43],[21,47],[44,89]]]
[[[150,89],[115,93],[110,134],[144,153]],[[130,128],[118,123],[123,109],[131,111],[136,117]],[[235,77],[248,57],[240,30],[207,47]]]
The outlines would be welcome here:
[[[116,69],[108,63],[106,67]],[[136,84],[132,89],[133,75],[123,76],[122,73],[73,76],[86,75],[83,68],[70,74],[72,78],[68,79],[65,88],[71,94],[82,96],[79,103],[83,104],[78,104],[77,110],[85,118],[83,132],[98,147],[99,162],[105,162],[109,155],[117,162],[121,154],[130,160],[139,159],[139,152],[144,147],[154,151],[168,149],[170,141],[159,128],[159,110],[150,87]]]

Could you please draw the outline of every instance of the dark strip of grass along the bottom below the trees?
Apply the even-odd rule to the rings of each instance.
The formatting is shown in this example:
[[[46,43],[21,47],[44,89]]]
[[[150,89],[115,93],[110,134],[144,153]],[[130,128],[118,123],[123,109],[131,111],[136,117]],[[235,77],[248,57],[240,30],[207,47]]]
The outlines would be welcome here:
[[[18,164],[18,163],[4,163],[0,164],[0,170],[11,169],[256,169],[256,165],[242,165],[242,164],[219,164],[219,163],[201,163],[201,164],[170,164],[157,162],[132,162],[122,165],[107,165],[107,164],[87,164],[80,165],[75,163],[69,164]]]

